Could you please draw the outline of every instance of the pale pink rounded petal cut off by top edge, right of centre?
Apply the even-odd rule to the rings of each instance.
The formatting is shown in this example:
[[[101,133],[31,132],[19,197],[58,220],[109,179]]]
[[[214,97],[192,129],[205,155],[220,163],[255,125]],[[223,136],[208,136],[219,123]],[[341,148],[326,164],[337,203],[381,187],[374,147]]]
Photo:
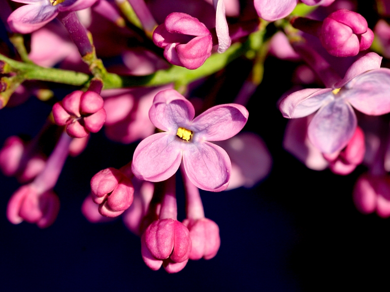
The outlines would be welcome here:
[[[254,0],[254,8],[259,17],[274,21],[293,12],[298,0]]]

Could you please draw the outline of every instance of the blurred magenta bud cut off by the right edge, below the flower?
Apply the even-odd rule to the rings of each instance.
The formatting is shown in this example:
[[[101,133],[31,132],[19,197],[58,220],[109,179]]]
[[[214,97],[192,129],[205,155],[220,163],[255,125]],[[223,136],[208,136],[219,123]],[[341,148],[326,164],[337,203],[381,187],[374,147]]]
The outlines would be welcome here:
[[[353,202],[363,214],[376,211],[378,216],[390,216],[390,179],[387,176],[362,175],[353,189]]]

